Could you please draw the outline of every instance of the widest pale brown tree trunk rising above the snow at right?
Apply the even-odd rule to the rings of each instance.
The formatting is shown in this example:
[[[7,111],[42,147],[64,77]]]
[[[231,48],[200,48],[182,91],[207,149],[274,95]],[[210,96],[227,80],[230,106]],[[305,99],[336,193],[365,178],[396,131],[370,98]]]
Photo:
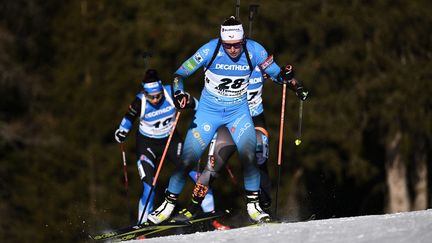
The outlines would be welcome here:
[[[406,212],[411,209],[408,194],[406,165],[401,159],[399,150],[401,138],[401,132],[396,132],[386,148],[388,213]]]

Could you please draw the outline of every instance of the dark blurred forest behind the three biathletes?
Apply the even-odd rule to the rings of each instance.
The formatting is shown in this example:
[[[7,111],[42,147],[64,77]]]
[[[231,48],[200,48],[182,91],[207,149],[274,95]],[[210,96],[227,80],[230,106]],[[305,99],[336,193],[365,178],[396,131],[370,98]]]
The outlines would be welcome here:
[[[432,42],[425,30],[431,3],[254,3],[260,4],[254,39],[279,64],[294,64],[311,90],[299,147],[293,143],[298,99],[288,94],[281,216],[430,206]],[[245,26],[248,4],[242,1],[240,13]],[[126,198],[113,132],[145,72],[141,54],[153,52],[147,66],[169,83],[180,62],[216,37],[222,20],[234,13],[234,1],[2,3],[0,238],[76,242],[88,231],[134,222],[141,193],[134,136],[126,144]],[[196,96],[201,84],[198,73],[185,83]],[[264,88],[271,165],[277,161],[280,93],[271,82]],[[190,118],[182,117],[180,129]],[[240,173],[235,159],[230,166]],[[164,168],[161,183],[171,169]],[[217,183],[216,196],[235,194],[232,203],[242,208],[241,185],[224,183]],[[218,205],[224,206],[232,205]]]

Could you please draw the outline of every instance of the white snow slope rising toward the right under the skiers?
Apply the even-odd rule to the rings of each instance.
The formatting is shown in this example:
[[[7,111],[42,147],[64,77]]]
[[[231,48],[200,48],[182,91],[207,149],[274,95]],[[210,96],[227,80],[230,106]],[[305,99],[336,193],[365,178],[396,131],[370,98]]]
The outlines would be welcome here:
[[[130,242],[432,243],[432,209],[397,214],[269,224]]]

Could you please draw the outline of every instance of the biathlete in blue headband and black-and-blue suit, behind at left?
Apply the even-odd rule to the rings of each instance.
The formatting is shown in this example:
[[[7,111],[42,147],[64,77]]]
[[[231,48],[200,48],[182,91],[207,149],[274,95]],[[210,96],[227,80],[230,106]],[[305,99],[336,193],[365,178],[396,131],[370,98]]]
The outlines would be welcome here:
[[[126,140],[134,121],[139,117],[139,129],[136,134],[136,157],[138,173],[143,183],[143,193],[138,203],[138,221],[143,213],[145,203],[149,197],[153,178],[160,158],[165,149],[169,134],[173,128],[176,108],[172,100],[171,85],[162,85],[157,71],[147,70],[142,81],[143,90],[138,92],[128,111],[123,117],[119,128],[115,132],[115,139],[119,143]],[[189,99],[187,108],[196,109],[198,101]],[[166,157],[178,164],[183,141],[177,131],[174,132],[168,147]],[[196,182],[197,172],[191,170],[190,177]],[[148,213],[153,210],[154,192],[150,195],[149,204],[141,223],[147,221]],[[210,193],[202,204],[204,212],[214,211],[213,195]],[[138,222],[139,223],[139,222]]]

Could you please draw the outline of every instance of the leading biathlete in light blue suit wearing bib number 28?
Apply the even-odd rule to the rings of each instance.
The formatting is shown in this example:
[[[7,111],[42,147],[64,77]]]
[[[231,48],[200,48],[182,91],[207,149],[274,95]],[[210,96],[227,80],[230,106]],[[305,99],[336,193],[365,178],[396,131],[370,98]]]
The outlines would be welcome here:
[[[213,53],[215,55],[212,56]],[[245,39],[243,26],[234,17],[221,25],[220,38],[204,44],[175,72],[173,100],[176,107],[183,109],[188,101],[183,80],[202,67],[205,74],[204,89],[186,134],[182,164],[170,178],[164,202],[149,215],[151,222],[158,224],[171,216],[187,173],[198,163],[221,126],[228,128],[243,163],[249,217],[253,221],[269,220],[269,215],[259,206],[260,172],[255,157],[256,134],[246,94],[249,77],[256,66],[279,84],[295,83],[291,86],[296,94],[306,98],[308,92],[293,79],[291,66],[281,69],[258,42]],[[199,182],[196,184],[191,211],[195,211],[208,190],[208,186]],[[184,215],[193,217],[194,213],[185,212]]]

